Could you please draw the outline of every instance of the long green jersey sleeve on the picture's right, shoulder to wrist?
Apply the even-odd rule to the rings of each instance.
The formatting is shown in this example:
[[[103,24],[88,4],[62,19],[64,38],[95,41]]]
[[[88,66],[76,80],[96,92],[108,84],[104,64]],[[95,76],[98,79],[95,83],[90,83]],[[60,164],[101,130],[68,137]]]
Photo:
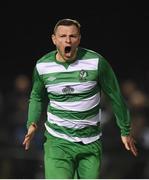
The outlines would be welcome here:
[[[129,135],[131,128],[130,112],[122,97],[116,75],[110,64],[103,57],[99,61],[99,82],[102,91],[110,100],[121,135]]]

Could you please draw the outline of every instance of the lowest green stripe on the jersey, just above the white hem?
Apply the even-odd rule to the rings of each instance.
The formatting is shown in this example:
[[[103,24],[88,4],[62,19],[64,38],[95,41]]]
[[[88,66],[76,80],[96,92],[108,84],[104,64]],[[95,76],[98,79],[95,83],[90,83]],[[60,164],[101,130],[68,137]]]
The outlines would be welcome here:
[[[101,132],[100,123],[98,123],[97,126],[88,126],[82,129],[74,129],[74,128],[67,128],[63,126],[58,126],[56,124],[51,124],[48,121],[46,124],[53,129],[54,131],[57,131],[62,134],[67,134],[71,137],[92,137],[96,136]]]

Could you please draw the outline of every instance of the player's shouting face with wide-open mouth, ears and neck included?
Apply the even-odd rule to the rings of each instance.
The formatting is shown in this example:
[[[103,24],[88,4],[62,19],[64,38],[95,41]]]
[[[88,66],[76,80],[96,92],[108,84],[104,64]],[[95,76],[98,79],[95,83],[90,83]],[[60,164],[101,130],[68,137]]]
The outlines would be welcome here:
[[[52,41],[58,50],[58,60],[67,61],[75,59],[80,39],[80,33],[75,25],[58,26],[55,34],[52,35]]]

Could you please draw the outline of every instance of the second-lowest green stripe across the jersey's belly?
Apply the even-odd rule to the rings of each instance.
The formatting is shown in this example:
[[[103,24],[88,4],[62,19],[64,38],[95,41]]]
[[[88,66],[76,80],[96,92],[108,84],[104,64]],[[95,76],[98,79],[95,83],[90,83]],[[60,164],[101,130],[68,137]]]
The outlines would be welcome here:
[[[83,120],[83,119],[89,119],[94,116],[96,116],[99,113],[100,105],[97,105],[96,107],[83,112],[78,111],[64,111],[64,110],[58,110],[56,108],[48,106],[48,111],[52,113],[55,116],[58,116],[60,118],[64,119],[76,119],[76,120]]]

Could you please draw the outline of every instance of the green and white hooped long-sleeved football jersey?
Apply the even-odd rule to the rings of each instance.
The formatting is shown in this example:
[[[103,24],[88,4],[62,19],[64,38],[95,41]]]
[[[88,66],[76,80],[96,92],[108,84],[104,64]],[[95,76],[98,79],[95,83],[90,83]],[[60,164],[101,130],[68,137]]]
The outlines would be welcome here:
[[[84,144],[96,141],[101,136],[101,90],[111,101],[121,134],[129,134],[129,111],[109,63],[80,47],[75,61],[61,63],[52,51],[35,66],[27,126],[39,120],[47,94],[47,133]]]

